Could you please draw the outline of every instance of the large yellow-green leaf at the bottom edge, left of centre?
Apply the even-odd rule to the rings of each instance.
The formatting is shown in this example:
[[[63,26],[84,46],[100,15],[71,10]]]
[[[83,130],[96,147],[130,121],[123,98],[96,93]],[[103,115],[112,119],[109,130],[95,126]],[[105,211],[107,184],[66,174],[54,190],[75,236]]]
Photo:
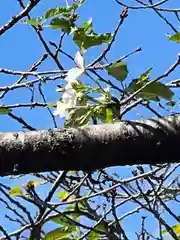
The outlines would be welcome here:
[[[56,228],[50,232],[48,232],[44,240],[59,240],[59,239],[64,239],[65,237],[68,237],[70,234],[72,234],[74,231],[76,231],[76,227],[72,226],[63,226]]]

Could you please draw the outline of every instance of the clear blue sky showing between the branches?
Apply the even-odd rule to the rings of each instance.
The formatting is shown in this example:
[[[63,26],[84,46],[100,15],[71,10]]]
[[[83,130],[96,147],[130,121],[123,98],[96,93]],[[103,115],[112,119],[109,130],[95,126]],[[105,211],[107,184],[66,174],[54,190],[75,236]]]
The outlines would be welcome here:
[[[64,0],[42,0],[41,3],[33,10],[31,16],[37,17],[43,15],[43,13],[52,7],[62,6]],[[71,1],[69,0],[71,3]],[[178,1],[171,1],[168,7],[180,7]],[[0,8],[0,26],[7,23],[8,20],[16,15],[20,11],[19,4],[16,0],[6,0],[1,2]],[[117,25],[119,15],[122,8],[118,6],[113,0],[87,0],[86,3],[79,10],[80,19],[79,23],[85,22],[92,17],[93,25],[97,33],[112,32]],[[177,26],[177,22],[174,16],[168,16]],[[129,16],[122,25],[117,40],[112,47],[112,51],[108,54],[109,61],[118,60],[123,55],[131,52],[137,47],[142,48],[142,52],[137,53],[126,60],[129,69],[129,75],[127,82],[132,78],[138,77],[141,73],[148,68],[153,67],[152,76],[156,77],[159,74],[164,73],[171,64],[173,64],[177,58],[179,52],[179,45],[168,41],[166,33],[173,34],[171,29],[153,12],[150,10],[129,10]],[[43,32],[46,40],[57,41],[59,39],[59,32],[51,29],[45,29]],[[77,51],[75,44],[72,44],[71,40],[65,41],[63,50],[69,54],[74,55]],[[89,63],[94,59],[98,53],[103,50],[103,47],[93,48],[87,51],[85,60]],[[21,23],[16,24],[11,30],[7,31],[0,37],[0,68],[7,68],[12,70],[26,71],[30,66],[37,61],[45,53],[36,33],[28,25]],[[73,63],[62,58],[63,65],[68,69],[73,67]],[[55,70],[57,69],[51,60],[45,61],[39,70]],[[175,80],[180,76],[180,71],[172,73],[167,80]],[[18,77],[0,75],[0,87],[11,85]],[[61,84],[61,81],[58,83]],[[45,88],[47,101],[56,102],[59,95],[55,92],[56,83],[48,83]],[[175,99],[178,99],[178,91]],[[37,101],[41,102],[42,99],[36,94]],[[15,103],[28,103],[30,101],[30,94],[27,90],[15,90],[6,95],[1,101],[3,104],[15,104]],[[175,108],[179,111],[179,107]],[[140,111],[140,116],[150,117],[150,112],[138,108],[128,114],[128,118],[139,118],[137,112]],[[162,111],[162,114],[168,114]],[[15,111],[18,116],[22,116],[37,129],[48,129],[53,127],[52,120],[45,109],[29,110],[18,109]],[[59,126],[62,125],[62,120],[58,120]],[[0,131],[19,131],[22,130],[22,126],[10,119],[8,116],[0,116]],[[124,167],[124,176],[129,176],[129,167]],[[14,185],[19,180],[2,178],[2,182],[9,185]],[[21,180],[21,183],[23,181]],[[42,194],[43,192],[39,190]],[[131,208],[130,205],[124,208],[124,211]],[[7,221],[3,218],[5,208],[0,203],[1,216],[0,224],[6,226],[8,231],[13,231],[16,228],[13,224],[7,224]],[[179,213],[180,214],[180,213]],[[170,218],[168,218],[171,221]],[[132,221],[132,222],[131,222]],[[173,222],[172,222],[173,223]],[[134,232],[140,226],[139,218],[130,218],[129,224],[130,232]],[[149,224],[149,228],[152,231],[156,231],[155,225]],[[140,229],[139,229],[140,230]]]

